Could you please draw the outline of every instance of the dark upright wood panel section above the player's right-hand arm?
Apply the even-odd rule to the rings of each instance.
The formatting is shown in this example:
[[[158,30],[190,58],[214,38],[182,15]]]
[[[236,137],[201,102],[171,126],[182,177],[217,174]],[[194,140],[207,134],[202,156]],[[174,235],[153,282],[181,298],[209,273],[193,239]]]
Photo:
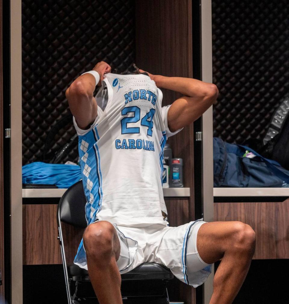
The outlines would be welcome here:
[[[191,77],[191,1],[137,0],[135,3],[137,66],[152,74]]]

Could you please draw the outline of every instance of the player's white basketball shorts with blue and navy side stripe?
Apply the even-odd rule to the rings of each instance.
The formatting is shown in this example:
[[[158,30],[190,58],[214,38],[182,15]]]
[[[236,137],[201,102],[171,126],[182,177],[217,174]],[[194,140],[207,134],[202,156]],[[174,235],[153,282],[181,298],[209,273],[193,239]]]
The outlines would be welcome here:
[[[113,224],[120,240],[120,273],[126,273],[144,262],[160,263],[182,282],[197,287],[211,273],[197,250],[197,232],[202,219],[178,227],[162,224]]]

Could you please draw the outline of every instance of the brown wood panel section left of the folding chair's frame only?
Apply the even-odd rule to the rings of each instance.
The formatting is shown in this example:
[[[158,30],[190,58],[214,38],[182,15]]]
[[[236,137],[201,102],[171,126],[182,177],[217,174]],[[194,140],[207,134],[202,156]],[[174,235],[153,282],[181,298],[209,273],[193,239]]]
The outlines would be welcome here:
[[[57,205],[23,205],[23,264],[61,264]]]

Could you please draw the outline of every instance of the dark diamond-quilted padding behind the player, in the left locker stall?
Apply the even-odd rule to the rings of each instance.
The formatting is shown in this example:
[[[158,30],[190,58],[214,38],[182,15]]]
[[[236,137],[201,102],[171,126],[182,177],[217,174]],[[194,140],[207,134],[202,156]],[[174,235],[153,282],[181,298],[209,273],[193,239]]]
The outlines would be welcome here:
[[[75,78],[101,60],[120,71],[135,61],[134,11],[133,0],[22,1],[23,165],[43,161],[51,128],[70,114],[65,90]],[[47,154],[75,134],[71,121]],[[61,162],[77,160],[76,142]]]

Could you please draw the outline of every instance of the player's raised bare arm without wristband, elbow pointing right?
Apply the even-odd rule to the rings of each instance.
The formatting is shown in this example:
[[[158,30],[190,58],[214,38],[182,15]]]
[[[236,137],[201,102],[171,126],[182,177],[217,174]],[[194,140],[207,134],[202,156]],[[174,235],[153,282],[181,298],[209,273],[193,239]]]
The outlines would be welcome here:
[[[175,100],[169,108],[168,126],[172,132],[193,123],[217,99],[218,88],[212,83],[186,77],[148,74],[158,88],[166,88],[185,95]]]

